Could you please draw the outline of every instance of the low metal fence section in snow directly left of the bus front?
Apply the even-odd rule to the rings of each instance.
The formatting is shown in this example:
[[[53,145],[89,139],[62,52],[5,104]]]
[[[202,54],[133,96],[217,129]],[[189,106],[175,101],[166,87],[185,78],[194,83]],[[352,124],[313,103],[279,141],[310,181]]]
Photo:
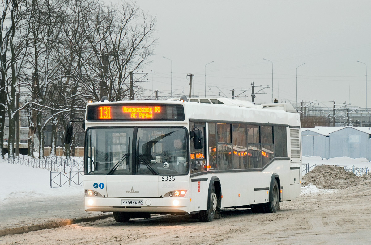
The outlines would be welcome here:
[[[83,183],[83,171],[52,172],[50,171],[50,188]]]

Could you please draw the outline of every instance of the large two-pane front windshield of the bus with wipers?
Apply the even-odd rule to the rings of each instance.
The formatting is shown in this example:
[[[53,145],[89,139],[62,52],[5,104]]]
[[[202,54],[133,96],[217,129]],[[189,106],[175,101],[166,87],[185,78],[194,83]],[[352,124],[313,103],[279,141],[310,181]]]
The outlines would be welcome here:
[[[136,140],[134,132],[134,128],[89,128],[85,174],[188,174],[184,128],[138,128]]]

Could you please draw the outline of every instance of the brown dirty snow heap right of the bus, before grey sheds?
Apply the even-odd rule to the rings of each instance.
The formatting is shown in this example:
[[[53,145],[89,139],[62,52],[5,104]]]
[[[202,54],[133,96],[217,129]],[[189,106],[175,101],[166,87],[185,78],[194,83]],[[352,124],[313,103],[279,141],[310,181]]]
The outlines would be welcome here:
[[[365,177],[367,178],[367,177]],[[321,165],[303,176],[303,186],[315,185],[322,189],[345,189],[364,185],[365,181],[343,167]]]

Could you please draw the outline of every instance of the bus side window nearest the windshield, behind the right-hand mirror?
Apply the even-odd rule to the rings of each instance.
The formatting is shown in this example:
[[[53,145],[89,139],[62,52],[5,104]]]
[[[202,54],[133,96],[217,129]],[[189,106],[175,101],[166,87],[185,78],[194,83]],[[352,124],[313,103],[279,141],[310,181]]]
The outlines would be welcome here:
[[[205,137],[205,123],[204,122],[190,122],[190,130],[198,128],[202,134],[203,148],[195,149],[193,140],[190,140],[191,153],[191,174],[206,170],[206,137]]]

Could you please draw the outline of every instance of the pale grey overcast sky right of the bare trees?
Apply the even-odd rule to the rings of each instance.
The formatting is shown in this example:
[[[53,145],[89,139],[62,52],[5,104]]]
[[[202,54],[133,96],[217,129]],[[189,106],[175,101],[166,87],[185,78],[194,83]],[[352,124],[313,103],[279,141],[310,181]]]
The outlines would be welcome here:
[[[158,46],[148,90],[170,95],[189,94],[188,73],[193,73],[193,95],[226,94],[255,85],[269,85],[256,103],[296,101],[349,101],[365,107],[366,66],[371,68],[371,1],[153,1],[137,0],[142,10],[157,16]],[[371,75],[371,73],[370,73]],[[371,91],[371,76],[368,91]],[[217,87],[210,87],[217,86]],[[209,90],[210,87],[210,90]],[[279,88],[279,89],[278,89]],[[147,91],[147,95],[152,92]],[[168,94],[165,94],[168,93]],[[236,92],[236,95],[241,92]],[[251,100],[251,91],[245,93]],[[331,104],[331,103],[325,103]],[[368,107],[371,96],[368,97]]]

